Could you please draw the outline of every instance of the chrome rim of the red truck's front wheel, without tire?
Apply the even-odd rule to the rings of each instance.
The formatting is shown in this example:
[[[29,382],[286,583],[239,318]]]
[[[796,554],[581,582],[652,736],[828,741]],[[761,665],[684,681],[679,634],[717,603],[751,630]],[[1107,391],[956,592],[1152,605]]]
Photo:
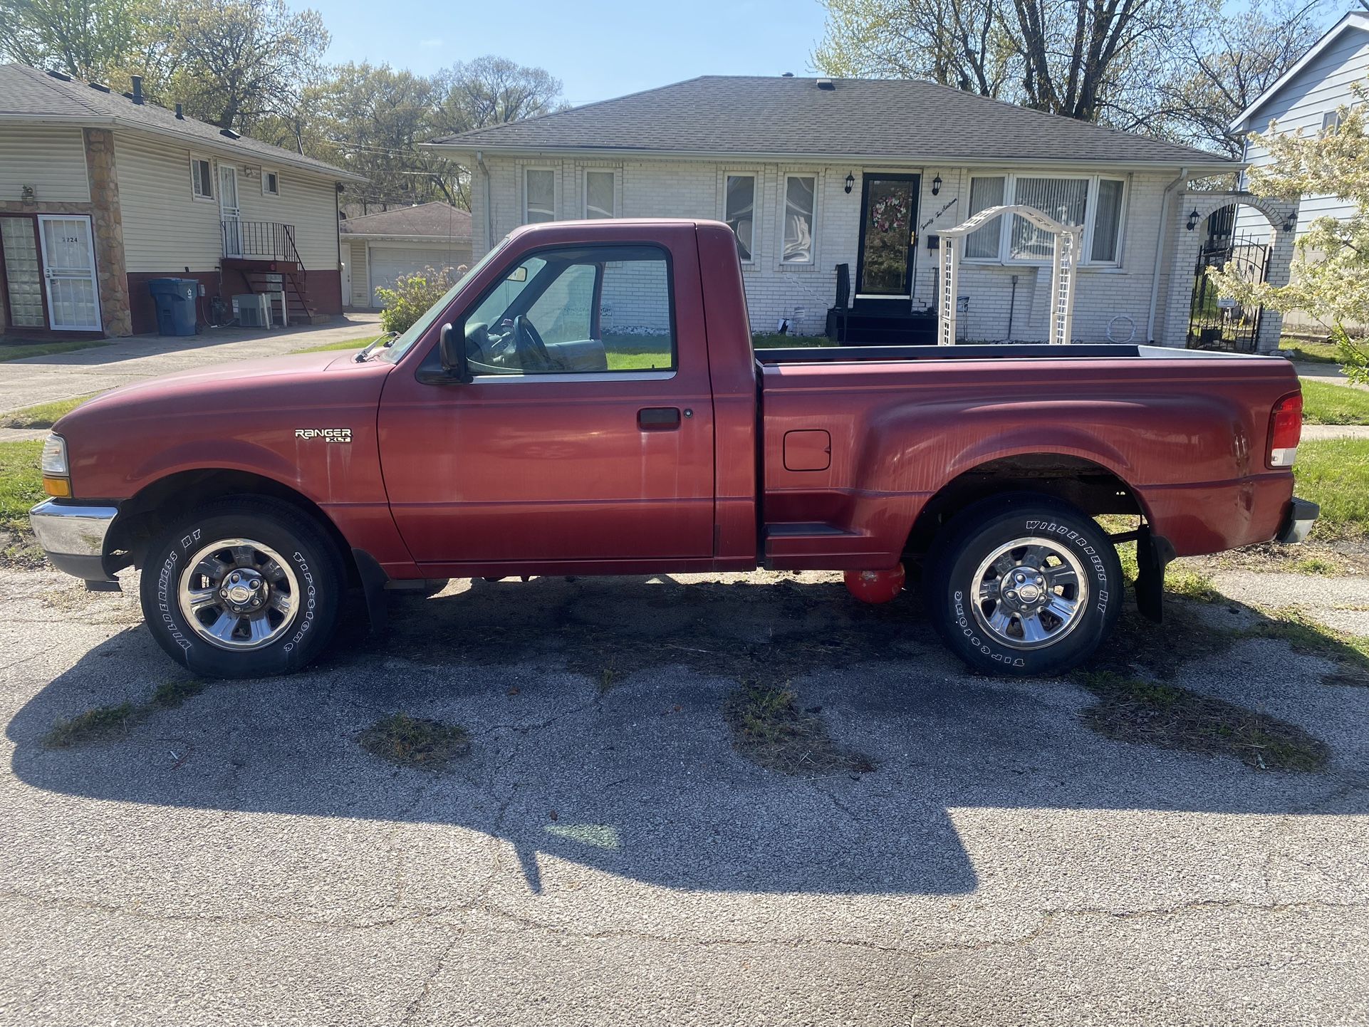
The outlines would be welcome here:
[[[205,642],[245,650],[271,645],[298,612],[300,582],[275,549],[251,538],[220,538],[181,572],[181,615]]]

